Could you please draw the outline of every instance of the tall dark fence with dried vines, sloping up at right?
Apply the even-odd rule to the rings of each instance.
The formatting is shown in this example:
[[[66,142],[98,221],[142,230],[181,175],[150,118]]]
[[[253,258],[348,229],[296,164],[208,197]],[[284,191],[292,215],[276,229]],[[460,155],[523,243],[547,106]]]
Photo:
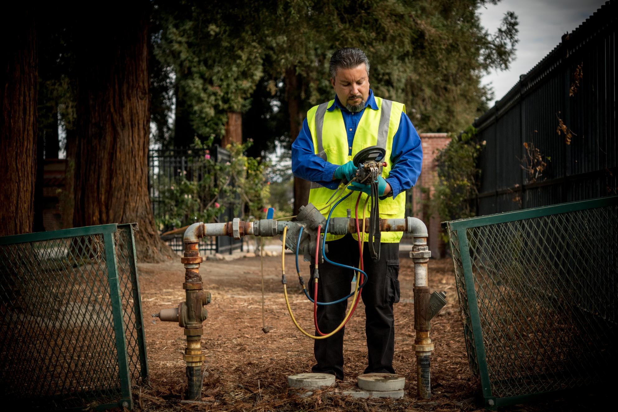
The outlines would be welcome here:
[[[475,121],[479,216],[616,194],[617,9],[564,35]]]

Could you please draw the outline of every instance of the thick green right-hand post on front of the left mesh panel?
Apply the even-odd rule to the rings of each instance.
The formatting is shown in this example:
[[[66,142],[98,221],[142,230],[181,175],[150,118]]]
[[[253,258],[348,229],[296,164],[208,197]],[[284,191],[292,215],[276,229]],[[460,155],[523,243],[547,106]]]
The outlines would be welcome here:
[[[114,230],[116,233],[116,230]],[[131,396],[131,377],[129,372],[129,355],[127,355],[127,342],[125,340],[124,316],[122,313],[122,298],[120,285],[118,284],[118,271],[116,263],[116,248],[114,247],[114,233],[103,233],[105,244],[105,262],[108,269],[109,298],[112,304],[112,317],[114,319],[114,335],[116,338],[116,351],[118,355],[118,377],[121,383],[122,398],[119,406],[133,409]]]

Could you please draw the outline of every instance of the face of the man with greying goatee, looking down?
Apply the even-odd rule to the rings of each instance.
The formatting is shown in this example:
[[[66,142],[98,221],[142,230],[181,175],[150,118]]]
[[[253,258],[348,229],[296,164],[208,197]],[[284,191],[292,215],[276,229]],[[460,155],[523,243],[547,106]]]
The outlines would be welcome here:
[[[335,78],[331,78],[332,88],[339,101],[350,112],[360,112],[369,98],[369,77],[365,63],[352,69],[337,69]]]

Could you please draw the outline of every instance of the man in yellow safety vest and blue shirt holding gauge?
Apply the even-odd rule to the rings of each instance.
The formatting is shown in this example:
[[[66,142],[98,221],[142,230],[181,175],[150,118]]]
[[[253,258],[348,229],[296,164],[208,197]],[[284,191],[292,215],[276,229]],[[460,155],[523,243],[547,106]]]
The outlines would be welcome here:
[[[384,160],[387,166],[378,179],[380,217],[402,218],[405,190],[417,182],[423,158],[420,138],[405,114],[405,106],[373,95],[369,88],[369,60],[360,49],[336,51],[329,69],[335,98],[307,112],[303,128],[292,144],[292,171],[295,176],[312,182],[309,201],[321,209],[341,179],[352,180],[355,173],[353,156],[368,146],[381,146],[386,149]],[[362,192],[360,215],[370,186],[353,182],[352,190]],[[347,209],[353,213],[356,201],[357,196],[349,196],[337,206],[332,217],[347,216]],[[329,208],[324,209],[324,216],[328,212]],[[395,343],[392,305],[399,301],[397,276],[401,236],[402,232],[381,233],[381,252],[377,262],[370,258],[366,245],[363,249],[363,263],[368,275],[362,291],[368,348],[368,366],[364,373],[395,372],[392,367]],[[368,235],[365,235],[364,242],[367,240]],[[358,265],[357,235],[328,235],[326,244],[326,255],[332,261]],[[309,285],[313,287],[313,266],[311,274]],[[320,264],[318,300],[335,301],[347,295],[352,277],[352,270]],[[346,308],[347,301],[318,306],[321,332],[328,333],[339,326]],[[313,349],[317,363],[311,369],[313,372],[344,379],[343,338],[344,329],[341,329],[332,337],[315,340]]]

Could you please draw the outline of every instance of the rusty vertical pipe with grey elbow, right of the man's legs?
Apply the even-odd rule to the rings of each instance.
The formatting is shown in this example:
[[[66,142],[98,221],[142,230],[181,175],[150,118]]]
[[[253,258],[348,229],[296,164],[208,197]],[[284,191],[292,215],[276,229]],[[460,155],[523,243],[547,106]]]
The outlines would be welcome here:
[[[430,355],[433,343],[430,338],[431,310],[427,265],[431,251],[427,246],[427,227],[415,217],[410,219],[414,244],[410,258],[414,263],[414,350],[417,356],[417,393],[421,399],[431,398],[431,363]]]

